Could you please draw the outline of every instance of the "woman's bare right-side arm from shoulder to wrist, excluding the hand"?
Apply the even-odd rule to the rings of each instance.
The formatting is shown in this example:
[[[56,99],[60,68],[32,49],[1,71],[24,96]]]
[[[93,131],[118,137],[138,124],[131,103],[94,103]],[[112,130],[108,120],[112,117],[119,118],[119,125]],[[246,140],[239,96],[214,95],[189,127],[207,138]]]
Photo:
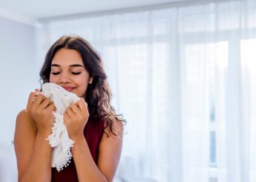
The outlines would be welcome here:
[[[88,144],[84,137],[75,138],[72,154],[77,168],[79,181],[113,181],[121,156],[123,124],[114,122],[118,135],[110,134],[108,128],[99,143],[99,159],[96,165],[91,157]],[[108,134],[108,135],[107,135]],[[84,162],[86,161],[86,162]]]

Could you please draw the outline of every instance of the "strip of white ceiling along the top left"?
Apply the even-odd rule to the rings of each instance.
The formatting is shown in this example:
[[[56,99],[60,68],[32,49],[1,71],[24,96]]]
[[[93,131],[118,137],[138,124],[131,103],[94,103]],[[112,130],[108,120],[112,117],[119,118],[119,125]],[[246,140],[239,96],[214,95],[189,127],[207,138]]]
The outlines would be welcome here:
[[[180,1],[185,0],[0,0],[0,15],[15,14],[37,20],[45,17],[145,7]]]

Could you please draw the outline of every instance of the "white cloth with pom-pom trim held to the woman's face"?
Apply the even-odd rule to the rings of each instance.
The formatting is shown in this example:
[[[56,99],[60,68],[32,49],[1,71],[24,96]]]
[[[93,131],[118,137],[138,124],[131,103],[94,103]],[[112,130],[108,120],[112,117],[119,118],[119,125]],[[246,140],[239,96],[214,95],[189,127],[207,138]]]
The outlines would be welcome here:
[[[64,124],[64,112],[72,103],[76,103],[80,98],[75,93],[68,92],[58,84],[45,83],[42,85],[42,95],[53,101],[56,111],[53,111],[55,122],[52,127],[52,134],[48,136],[50,146],[53,148],[51,166],[58,171],[67,167],[72,159],[70,151],[74,141],[69,138],[67,127]]]

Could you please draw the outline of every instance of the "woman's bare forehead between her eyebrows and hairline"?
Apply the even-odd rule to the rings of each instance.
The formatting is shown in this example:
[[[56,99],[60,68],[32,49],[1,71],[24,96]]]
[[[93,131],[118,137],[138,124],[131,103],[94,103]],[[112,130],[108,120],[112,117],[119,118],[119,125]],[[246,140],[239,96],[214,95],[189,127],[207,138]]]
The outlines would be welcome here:
[[[83,59],[77,50],[61,48],[53,56],[52,64],[58,64],[59,66],[80,64],[83,66]]]

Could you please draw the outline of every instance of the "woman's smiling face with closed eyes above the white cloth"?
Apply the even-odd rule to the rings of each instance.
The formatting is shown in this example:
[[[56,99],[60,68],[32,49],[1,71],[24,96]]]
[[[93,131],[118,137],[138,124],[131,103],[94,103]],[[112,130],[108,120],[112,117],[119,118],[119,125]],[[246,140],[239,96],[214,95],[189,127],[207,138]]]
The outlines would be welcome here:
[[[89,82],[92,82],[92,78],[78,51],[61,48],[56,52],[51,63],[50,83],[82,97]]]

